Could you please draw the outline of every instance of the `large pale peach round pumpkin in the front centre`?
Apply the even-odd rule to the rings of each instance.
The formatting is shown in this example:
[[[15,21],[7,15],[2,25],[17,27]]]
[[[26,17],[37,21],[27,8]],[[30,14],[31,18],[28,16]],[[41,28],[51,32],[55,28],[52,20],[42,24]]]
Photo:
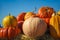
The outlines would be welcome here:
[[[23,23],[23,33],[28,37],[42,36],[47,29],[47,24],[38,17],[30,17]]]

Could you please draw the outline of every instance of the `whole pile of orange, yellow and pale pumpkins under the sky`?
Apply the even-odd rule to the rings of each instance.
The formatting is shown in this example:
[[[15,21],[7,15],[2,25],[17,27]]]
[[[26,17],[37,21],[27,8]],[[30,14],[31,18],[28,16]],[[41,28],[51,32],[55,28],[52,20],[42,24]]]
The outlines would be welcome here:
[[[35,38],[44,35],[48,28],[52,37],[60,38],[60,12],[56,13],[51,7],[41,7],[38,13],[22,12],[17,17],[9,14],[2,25],[0,38],[10,39],[20,33]]]

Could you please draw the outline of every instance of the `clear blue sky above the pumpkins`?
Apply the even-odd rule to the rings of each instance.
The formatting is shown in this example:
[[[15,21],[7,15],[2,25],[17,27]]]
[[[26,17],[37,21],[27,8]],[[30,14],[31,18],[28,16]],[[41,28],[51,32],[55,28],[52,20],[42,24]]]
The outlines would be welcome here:
[[[9,13],[17,16],[21,12],[32,12],[36,7],[36,13],[42,6],[49,6],[55,11],[60,10],[60,0],[0,0],[0,24]]]

